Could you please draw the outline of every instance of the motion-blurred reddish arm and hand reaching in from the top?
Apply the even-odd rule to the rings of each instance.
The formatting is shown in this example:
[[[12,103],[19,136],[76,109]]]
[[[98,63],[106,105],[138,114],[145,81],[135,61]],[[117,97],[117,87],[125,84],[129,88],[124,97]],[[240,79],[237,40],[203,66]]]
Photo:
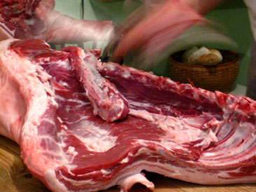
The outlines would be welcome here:
[[[198,22],[205,22],[202,15],[222,2],[224,0],[163,1],[163,4],[150,8],[149,14],[123,35],[114,49],[112,61],[119,62],[116,58],[139,47],[150,49],[151,54],[156,54],[156,49],[159,53],[186,29]]]

